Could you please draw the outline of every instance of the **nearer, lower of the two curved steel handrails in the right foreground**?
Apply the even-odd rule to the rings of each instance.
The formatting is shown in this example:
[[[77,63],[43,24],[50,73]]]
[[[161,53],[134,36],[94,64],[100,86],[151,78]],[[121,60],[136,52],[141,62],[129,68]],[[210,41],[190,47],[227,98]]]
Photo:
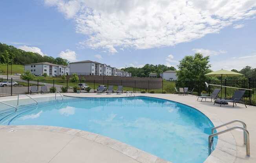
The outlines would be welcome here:
[[[214,136],[217,136],[219,134],[223,134],[225,132],[229,132],[229,131],[234,130],[234,129],[241,129],[241,130],[243,130],[246,133],[246,142],[245,142],[246,155],[250,156],[250,137],[249,137],[249,132],[248,132],[247,129],[245,129],[243,127],[240,127],[240,126],[231,127],[229,129],[226,129],[226,130],[223,130],[223,131],[220,131],[220,132],[216,132],[214,134],[209,135],[209,137],[208,137],[208,156],[210,156],[210,154],[212,153],[212,145],[213,145],[212,138]]]

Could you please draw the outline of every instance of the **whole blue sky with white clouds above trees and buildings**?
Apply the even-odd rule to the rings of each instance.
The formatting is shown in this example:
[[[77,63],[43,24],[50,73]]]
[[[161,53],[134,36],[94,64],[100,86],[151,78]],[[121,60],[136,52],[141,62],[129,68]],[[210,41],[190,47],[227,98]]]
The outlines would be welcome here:
[[[256,2],[3,0],[0,42],[121,68],[210,55],[213,70],[256,67]]]

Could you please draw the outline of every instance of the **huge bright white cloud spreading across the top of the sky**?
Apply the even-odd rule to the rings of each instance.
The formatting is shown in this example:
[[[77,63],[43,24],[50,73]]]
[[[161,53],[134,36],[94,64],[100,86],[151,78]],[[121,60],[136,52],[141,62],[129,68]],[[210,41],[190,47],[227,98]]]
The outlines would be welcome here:
[[[44,1],[75,20],[80,45],[109,53],[189,42],[256,15],[255,0]]]

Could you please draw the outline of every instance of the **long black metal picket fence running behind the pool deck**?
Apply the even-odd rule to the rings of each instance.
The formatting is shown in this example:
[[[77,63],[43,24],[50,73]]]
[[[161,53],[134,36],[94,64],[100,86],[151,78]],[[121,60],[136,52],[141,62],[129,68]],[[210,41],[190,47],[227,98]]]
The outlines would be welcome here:
[[[18,94],[29,94],[31,87],[36,87],[38,93],[41,92],[42,86],[47,87],[48,92],[77,92],[77,87],[81,84],[86,84],[89,89],[82,89],[81,92],[96,92],[99,85],[105,85],[106,89],[113,85],[114,91],[117,90],[118,85],[123,85],[123,91],[133,91],[135,93],[166,93],[174,94],[177,93],[179,88],[188,87],[189,91],[194,89],[194,95],[201,95],[201,93],[207,93],[210,95],[214,89],[221,88],[219,94],[220,98],[231,98],[234,91],[241,89],[251,89],[245,92],[243,100],[248,105],[256,106],[256,80],[246,79],[246,80],[212,80],[206,81],[210,85],[206,87],[205,81],[84,81],[78,80],[76,82],[71,82],[70,80],[61,80],[56,78],[56,80],[21,80],[9,78],[0,78],[0,97],[1,96],[15,96]],[[212,85],[213,84],[213,85]],[[219,85],[224,85],[228,87],[220,87]],[[83,87],[82,87],[83,88]]]

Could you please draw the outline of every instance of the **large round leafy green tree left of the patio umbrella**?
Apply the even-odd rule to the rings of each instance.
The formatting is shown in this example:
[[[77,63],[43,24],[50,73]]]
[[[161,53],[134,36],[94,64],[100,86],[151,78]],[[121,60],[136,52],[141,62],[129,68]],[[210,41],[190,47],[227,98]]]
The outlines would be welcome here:
[[[194,56],[185,56],[178,65],[179,71],[177,71],[177,77],[180,81],[198,81],[207,80],[205,76],[208,72],[211,72],[209,64],[209,56],[203,56],[203,54],[196,53]]]

